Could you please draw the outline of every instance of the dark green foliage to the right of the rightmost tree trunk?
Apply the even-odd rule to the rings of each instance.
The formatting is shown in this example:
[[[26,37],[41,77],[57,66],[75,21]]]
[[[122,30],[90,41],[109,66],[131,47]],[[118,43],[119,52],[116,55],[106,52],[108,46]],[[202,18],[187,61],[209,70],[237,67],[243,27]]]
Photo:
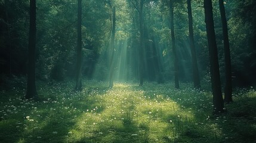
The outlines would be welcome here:
[[[254,84],[255,72],[255,2],[235,1],[227,3],[230,10],[229,35],[232,66],[238,85]],[[252,57],[253,55],[253,57]],[[246,72],[246,75],[242,73]]]

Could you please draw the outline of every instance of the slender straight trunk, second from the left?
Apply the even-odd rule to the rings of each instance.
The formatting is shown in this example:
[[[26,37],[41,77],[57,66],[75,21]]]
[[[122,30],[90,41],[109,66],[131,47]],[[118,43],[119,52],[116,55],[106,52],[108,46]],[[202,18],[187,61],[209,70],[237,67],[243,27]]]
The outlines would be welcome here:
[[[76,59],[76,91],[82,89],[82,0],[78,0],[78,47]]]

